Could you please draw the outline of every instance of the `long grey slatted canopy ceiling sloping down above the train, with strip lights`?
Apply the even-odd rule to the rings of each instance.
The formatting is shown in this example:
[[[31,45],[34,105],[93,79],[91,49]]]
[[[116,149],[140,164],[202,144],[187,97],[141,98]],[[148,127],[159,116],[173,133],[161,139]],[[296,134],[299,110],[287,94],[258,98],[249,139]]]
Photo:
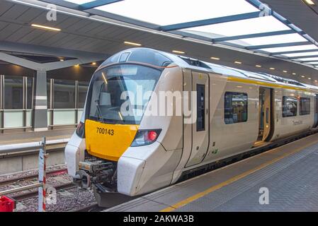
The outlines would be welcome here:
[[[0,13],[4,10],[7,11],[8,8],[12,6],[12,4],[4,4],[3,2],[4,1],[1,1],[0,3]],[[189,57],[195,57],[217,64],[225,64],[227,66],[234,66],[234,61],[236,60],[242,61],[244,65],[235,65],[240,69],[268,72],[271,66],[276,68],[276,71],[271,71],[271,73],[277,74],[278,76],[293,78],[289,73],[282,74],[282,71],[286,70],[289,72],[296,71],[297,74],[304,73],[305,75],[312,76],[312,78],[314,78],[314,75],[317,77],[317,71],[314,69],[288,61],[188,42],[186,40],[174,39],[150,32],[134,30],[132,28],[123,28],[118,25],[76,18],[60,13],[58,14],[58,20],[51,23],[46,21],[45,11],[41,12],[40,9],[35,8],[28,8],[28,10],[26,10],[21,7],[20,10],[12,11],[12,13],[15,13],[15,15],[11,16],[11,18],[7,17],[8,14],[6,14],[6,18],[0,16],[0,30],[4,30],[6,34],[4,36],[11,42],[113,54],[121,49],[130,48],[130,46],[123,44],[123,41],[127,40],[140,42],[144,47],[154,47],[155,49],[161,49],[166,52],[171,52],[172,49],[181,50],[186,52],[186,55]],[[7,26],[8,23],[6,23],[5,20],[9,19],[11,20],[11,24]],[[45,25],[60,26],[62,32],[49,32],[30,28],[30,23],[45,23]],[[312,49],[312,47],[310,47],[310,49]],[[278,52],[280,51],[281,49]],[[210,57],[220,57],[221,60],[212,61]],[[255,64],[261,64],[263,68],[256,69]],[[297,79],[298,77],[294,77],[294,79],[295,78]],[[300,78],[300,80],[301,79],[302,78]]]

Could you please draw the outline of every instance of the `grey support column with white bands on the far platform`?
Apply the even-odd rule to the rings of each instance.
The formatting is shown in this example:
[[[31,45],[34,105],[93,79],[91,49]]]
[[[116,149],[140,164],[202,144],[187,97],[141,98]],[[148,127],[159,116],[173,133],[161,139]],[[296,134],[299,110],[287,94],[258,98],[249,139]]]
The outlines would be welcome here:
[[[47,131],[47,72],[37,71],[33,110],[34,131]]]

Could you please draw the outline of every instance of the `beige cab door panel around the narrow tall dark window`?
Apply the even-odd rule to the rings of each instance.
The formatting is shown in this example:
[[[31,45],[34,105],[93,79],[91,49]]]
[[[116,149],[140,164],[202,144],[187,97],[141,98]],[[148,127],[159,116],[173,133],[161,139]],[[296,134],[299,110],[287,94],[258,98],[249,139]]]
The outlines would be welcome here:
[[[191,155],[186,167],[203,161],[209,146],[209,76],[207,73],[192,72],[192,90],[197,92],[197,119],[192,124]]]

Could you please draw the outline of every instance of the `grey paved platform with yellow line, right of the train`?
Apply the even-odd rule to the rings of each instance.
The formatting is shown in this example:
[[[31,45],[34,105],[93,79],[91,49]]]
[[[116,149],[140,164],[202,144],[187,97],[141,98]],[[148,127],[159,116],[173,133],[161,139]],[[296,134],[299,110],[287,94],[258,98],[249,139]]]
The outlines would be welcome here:
[[[106,211],[317,211],[317,194],[315,133]]]

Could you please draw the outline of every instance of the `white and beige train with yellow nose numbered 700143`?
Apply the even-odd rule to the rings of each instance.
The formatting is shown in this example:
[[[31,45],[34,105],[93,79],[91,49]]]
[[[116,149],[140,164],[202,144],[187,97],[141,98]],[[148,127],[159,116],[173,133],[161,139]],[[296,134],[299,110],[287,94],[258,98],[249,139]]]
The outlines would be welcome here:
[[[136,101],[139,91],[147,95]],[[172,114],[151,114],[160,112],[162,93],[173,95],[164,98]],[[317,100],[317,86],[290,78],[126,49],[91,78],[65,148],[68,172],[95,194],[149,194],[212,162],[316,129]]]

